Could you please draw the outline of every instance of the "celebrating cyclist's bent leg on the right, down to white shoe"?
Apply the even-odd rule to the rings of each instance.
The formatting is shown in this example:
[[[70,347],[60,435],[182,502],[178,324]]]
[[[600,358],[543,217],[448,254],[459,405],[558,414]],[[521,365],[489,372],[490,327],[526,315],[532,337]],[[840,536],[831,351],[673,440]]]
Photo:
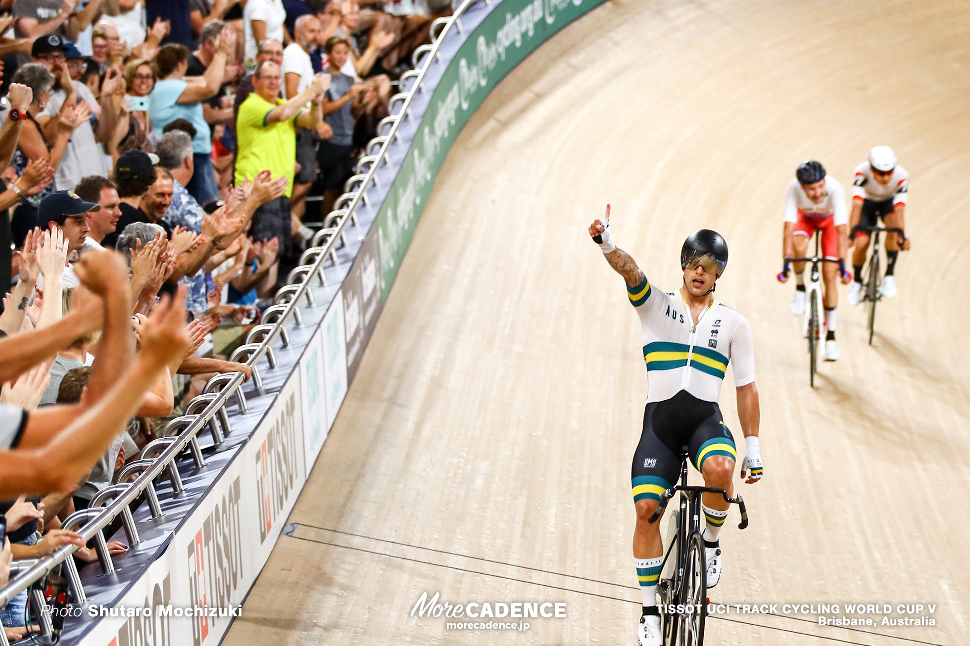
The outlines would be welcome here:
[[[734,462],[737,451],[734,438],[727,430],[721,409],[715,404],[714,414],[697,428],[691,438],[691,460],[704,477],[707,487],[720,487],[732,497],[734,493]],[[704,547],[707,560],[707,587],[713,588],[721,580],[721,527],[727,520],[730,503],[720,494],[704,494]]]

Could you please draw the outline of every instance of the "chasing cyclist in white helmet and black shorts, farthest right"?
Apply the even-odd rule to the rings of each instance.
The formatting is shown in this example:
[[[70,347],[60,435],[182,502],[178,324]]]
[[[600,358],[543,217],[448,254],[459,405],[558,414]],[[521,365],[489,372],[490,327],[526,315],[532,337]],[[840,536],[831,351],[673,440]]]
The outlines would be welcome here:
[[[879,224],[879,218],[887,227],[905,229],[906,198],[909,195],[909,173],[896,164],[896,153],[888,145],[877,145],[869,150],[869,161],[856,167],[853,180],[852,217],[849,243],[855,244],[852,266],[856,280],[849,286],[849,304],[858,305],[862,293],[862,265],[869,248],[867,230]],[[904,239],[902,248],[909,248]],[[887,298],[896,295],[896,257],[899,255],[899,234],[886,235],[886,276],[882,293]]]

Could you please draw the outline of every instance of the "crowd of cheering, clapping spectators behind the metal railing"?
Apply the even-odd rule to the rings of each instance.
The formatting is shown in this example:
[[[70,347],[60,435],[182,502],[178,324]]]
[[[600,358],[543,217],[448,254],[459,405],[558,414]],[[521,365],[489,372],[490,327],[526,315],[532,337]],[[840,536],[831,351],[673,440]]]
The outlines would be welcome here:
[[[448,0],[0,0],[0,584],[219,372]],[[4,524],[5,523],[5,524]],[[123,554],[122,542],[109,544]],[[10,640],[36,616],[0,609]]]

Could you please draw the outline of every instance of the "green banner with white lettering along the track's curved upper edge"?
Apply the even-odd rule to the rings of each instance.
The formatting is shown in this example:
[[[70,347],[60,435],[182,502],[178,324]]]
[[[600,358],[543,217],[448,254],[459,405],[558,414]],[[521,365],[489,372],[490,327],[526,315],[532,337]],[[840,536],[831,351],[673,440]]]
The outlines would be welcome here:
[[[504,0],[469,34],[438,82],[404,164],[377,213],[382,303],[398,275],[437,172],[471,114],[535,48],[603,2]]]

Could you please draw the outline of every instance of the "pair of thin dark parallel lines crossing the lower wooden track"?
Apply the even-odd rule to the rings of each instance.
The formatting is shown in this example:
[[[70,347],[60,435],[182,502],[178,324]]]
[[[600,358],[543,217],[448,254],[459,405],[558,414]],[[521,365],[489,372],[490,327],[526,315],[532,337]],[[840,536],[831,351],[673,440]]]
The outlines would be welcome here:
[[[376,552],[374,550],[366,550],[366,549],[364,549],[362,547],[351,547],[350,545],[340,545],[339,543],[332,543],[332,542],[329,542],[329,541],[326,541],[326,540],[317,540],[315,538],[305,538],[305,537],[302,537],[302,536],[294,536],[293,533],[296,531],[296,528],[297,527],[301,527],[301,526],[302,527],[309,527],[309,528],[313,528],[315,530],[322,530],[324,532],[343,533],[343,534],[347,534],[347,535],[351,535],[351,536],[357,536],[357,537],[360,537],[360,538],[371,538],[372,540],[377,540],[377,541],[380,541],[380,542],[393,543],[395,545],[402,545],[402,546],[406,546],[406,547],[413,547],[413,548],[416,548],[416,549],[428,550],[428,551],[431,551],[431,552],[439,552],[441,554],[449,554],[449,555],[452,555],[452,556],[460,556],[460,557],[465,557],[467,559],[472,559],[472,560],[477,560],[477,561],[485,561],[485,562],[488,562],[488,563],[494,563],[494,564],[498,564],[498,565],[508,565],[510,567],[522,567],[524,569],[532,569],[532,570],[535,570],[535,571],[538,571],[538,572],[545,572],[545,573],[548,573],[548,574],[558,574],[560,576],[572,576],[571,574],[563,574],[561,572],[554,572],[554,571],[546,570],[546,569],[538,569],[537,567],[528,567],[526,565],[512,565],[512,564],[502,563],[501,561],[493,561],[491,559],[483,559],[481,557],[470,557],[470,556],[466,556],[464,554],[457,554],[455,552],[447,552],[447,551],[444,551],[444,550],[437,550],[437,549],[434,549],[434,548],[431,548],[431,547],[420,547],[418,545],[410,545],[408,543],[401,543],[401,542],[398,542],[398,541],[395,541],[395,540],[387,540],[386,538],[373,538],[372,536],[367,536],[367,535],[360,534],[360,533],[341,532],[339,530],[331,530],[329,528],[316,527],[314,525],[307,525],[305,523],[293,523],[292,526],[293,526],[293,529],[290,530],[289,532],[285,532],[285,535],[289,536],[290,538],[296,538],[297,540],[306,540],[307,542],[310,542],[310,543],[317,543],[319,545],[329,545],[331,547],[342,547],[343,549],[353,550],[355,552],[363,552],[365,554],[373,554],[375,556],[382,556],[382,557],[386,557],[388,559],[400,559],[402,561],[410,561],[411,563],[419,563],[419,564],[422,564],[422,565],[435,565],[436,567],[444,567],[446,569],[454,569],[454,570],[458,570],[458,571],[461,571],[461,572],[468,572],[469,574],[478,574],[480,576],[494,576],[496,578],[505,579],[507,581],[516,581],[518,583],[527,583],[527,584],[530,584],[530,585],[533,585],[533,586],[539,586],[540,588],[551,588],[553,590],[562,590],[563,592],[571,592],[571,593],[576,594],[576,595],[586,595],[587,597],[607,598],[607,599],[610,599],[610,600],[613,600],[613,601],[622,601],[624,603],[635,603],[635,604],[639,605],[639,602],[638,601],[631,601],[629,598],[609,597],[608,595],[598,595],[597,593],[585,592],[583,590],[575,590],[573,588],[564,588],[563,586],[553,586],[553,585],[548,585],[546,583],[536,583],[535,581],[528,581],[526,579],[518,579],[518,578],[515,578],[513,576],[502,576],[501,574],[492,574],[491,572],[482,572],[480,570],[468,569],[466,567],[456,567],[454,565],[443,565],[443,564],[435,563],[433,561],[422,561],[420,559],[411,559],[410,557],[398,556],[396,554],[387,554],[385,552]],[[582,579],[582,580],[585,580],[585,581],[592,581],[592,582],[595,582],[595,583],[606,583],[608,585],[613,585],[613,586],[620,586],[621,585],[619,583],[610,583],[608,581],[599,581],[598,579],[589,579],[589,578],[582,577],[582,576],[573,576],[572,578]],[[621,587],[630,589],[630,586],[621,586]],[[731,604],[731,605],[733,605],[733,604]],[[771,616],[771,617],[779,617],[779,618],[782,618],[782,619],[794,619],[796,621],[806,622],[806,623],[813,624],[813,625],[815,624],[815,622],[812,622],[810,620],[807,620],[807,619],[799,619],[797,617],[790,617],[788,615],[779,615],[779,614],[774,614],[774,613],[770,613],[770,612],[769,613],[764,613],[764,614],[766,614],[768,616]],[[820,635],[820,634],[813,634],[811,632],[802,632],[800,630],[783,629],[783,628],[777,628],[777,627],[774,627],[774,626],[763,626],[761,624],[754,624],[752,622],[743,622],[743,621],[741,621],[739,619],[727,619],[727,617],[721,617],[720,615],[707,615],[707,618],[708,619],[717,619],[717,620],[725,621],[725,622],[731,622],[731,623],[734,623],[734,624],[744,624],[746,626],[753,626],[755,628],[760,628],[760,629],[781,630],[782,632],[791,632],[792,634],[800,634],[800,635],[804,635],[806,637],[815,637],[817,639],[827,639],[829,641],[837,641],[837,642],[840,642],[840,643],[843,643],[843,644],[853,644],[854,646],[871,646],[870,644],[864,644],[864,643],[859,642],[859,641],[848,641],[846,639],[839,639],[838,637],[827,637],[827,636]],[[903,641],[908,641],[908,642],[911,642],[911,643],[927,644],[928,646],[945,646],[944,644],[939,644],[937,642],[921,641],[919,639],[909,639],[909,638],[906,638],[906,637],[899,637],[899,636],[892,635],[892,634],[881,634],[879,632],[870,632],[868,630],[851,629],[851,628],[846,628],[846,627],[842,627],[842,626],[836,626],[836,627],[833,627],[833,628],[839,628],[839,629],[842,629],[842,630],[850,630],[850,631],[853,631],[853,632],[861,632],[862,634],[870,634],[870,635],[873,635],[875,637],[889,637],[891,639],[901,639]]]

